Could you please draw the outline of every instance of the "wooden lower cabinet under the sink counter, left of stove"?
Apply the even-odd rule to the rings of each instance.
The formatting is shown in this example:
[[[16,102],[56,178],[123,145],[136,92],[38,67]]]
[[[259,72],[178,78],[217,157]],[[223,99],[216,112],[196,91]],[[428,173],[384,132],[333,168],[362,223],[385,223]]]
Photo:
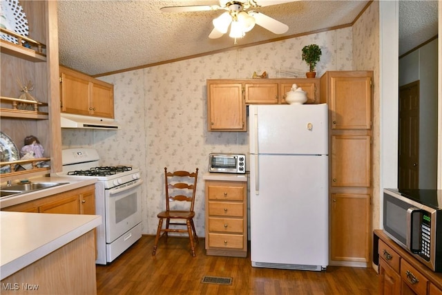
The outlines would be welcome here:
[[[95,214],[95,184],[2,208],[2,211]]]

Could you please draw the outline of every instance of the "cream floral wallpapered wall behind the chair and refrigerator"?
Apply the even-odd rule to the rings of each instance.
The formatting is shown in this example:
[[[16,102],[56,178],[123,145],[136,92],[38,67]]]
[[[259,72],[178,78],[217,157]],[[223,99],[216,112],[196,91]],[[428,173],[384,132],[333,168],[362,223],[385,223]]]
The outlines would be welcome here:
[[[368,12],[370,15],[362,18],[364,24],[358,26],[361,35],[377,23],[373,19],[375,12]],[[301,59],[301,49],[313,43],[323,52],[316,68],[319,76],[326,70],[353,70],[353,30],[320,32],[102,77],[100,79],[115,85],[115,119],[122,130],[65,129],[63,148],[89,146],[99,151],[102,164],[140,167],[144,179],[143,234],[155,234],[156,215],[164,209],[164,166],[171,170],[198,167],[201,177],[195,226],[198,235],[204,236],[202,174],[208,171],[208,155],[212,152],[247,154],[248,147],[248,133],[206,130],[206,79],[250,78],[254,71],[267,71],[269,77],[287,77],[280,75],[280,69],[305,73],[308,68]],[[362,47],[357,48],[363,48],[369,41],[373,40],[358,38]],[[375,49],[375,46],[367,47]],[[374,59],[367,59],[361,67],[372,69],[372,62]]]

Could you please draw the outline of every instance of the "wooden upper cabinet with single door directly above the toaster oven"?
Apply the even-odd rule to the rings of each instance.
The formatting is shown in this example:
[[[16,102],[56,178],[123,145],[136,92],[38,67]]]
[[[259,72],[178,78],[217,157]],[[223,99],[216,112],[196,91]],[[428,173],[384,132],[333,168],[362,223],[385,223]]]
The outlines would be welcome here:
[[[247,131],[241,83],[208,80],[207,119],[209,131]]]

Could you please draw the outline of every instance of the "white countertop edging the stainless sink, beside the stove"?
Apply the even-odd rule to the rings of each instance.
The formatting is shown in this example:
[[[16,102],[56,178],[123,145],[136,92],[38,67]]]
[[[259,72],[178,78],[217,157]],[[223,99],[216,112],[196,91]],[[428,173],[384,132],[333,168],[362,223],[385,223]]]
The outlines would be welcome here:
[[[68,184],[59,185],[58,187],[50,187],[48,189],[41,189],[40,191],[33,191],[30,193],[22,193],[19,196],[4,197],[0,199],[0,208],[9,207],[15,204],[21,204],[39,198],[55,195],[57,193],[64,193],[72,189],[78,189],[80,187],[86,187],[89,184],[95,184],[97,180],[93,179],[77,179],[72,177],[41,177],[32,178],[30,182],[68,182]]]

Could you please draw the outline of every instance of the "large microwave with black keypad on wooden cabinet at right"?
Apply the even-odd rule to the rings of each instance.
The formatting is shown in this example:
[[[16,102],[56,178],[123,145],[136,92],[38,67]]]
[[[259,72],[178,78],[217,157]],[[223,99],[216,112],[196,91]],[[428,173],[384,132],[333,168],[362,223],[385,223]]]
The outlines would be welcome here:
[[[417,260],[442,272],[442,190],[384,189],[383,231]]]

